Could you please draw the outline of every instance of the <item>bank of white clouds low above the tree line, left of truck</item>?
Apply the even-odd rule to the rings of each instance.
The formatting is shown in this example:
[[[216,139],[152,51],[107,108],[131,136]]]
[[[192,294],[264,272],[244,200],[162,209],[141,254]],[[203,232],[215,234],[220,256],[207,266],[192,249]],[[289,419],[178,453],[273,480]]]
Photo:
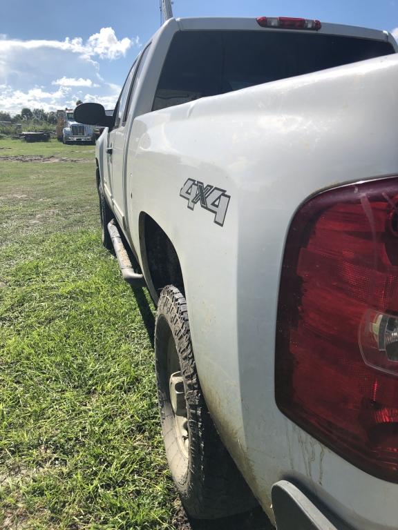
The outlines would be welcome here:
[[[102,61],[120,59],[140,46],[138,37],[117,39],[112,28],[102,28],[86,41],[80,37],[22,41],[0,35],[0,110],[11,114],[25,106],[56,110],[73,106],[77,99],[113,108],[120,86],[100,75]],[[129,66],[122,66],[122,71],[127,74]]]

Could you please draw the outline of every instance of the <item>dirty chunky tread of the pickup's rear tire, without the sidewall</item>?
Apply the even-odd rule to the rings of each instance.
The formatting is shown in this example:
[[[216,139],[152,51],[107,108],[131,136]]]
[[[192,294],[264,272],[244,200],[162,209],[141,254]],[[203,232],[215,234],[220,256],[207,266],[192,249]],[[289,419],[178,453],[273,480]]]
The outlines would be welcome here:
[[[247,511],[257,502],[222,444],[207,410],[193,356],[187,302],[175,286],[162,290],[156,328],[160,315],[167,318],[176,341],[189,409],[189,470],[187,480],[177,484],[182,504],[191,517],[200,519],[223,518]],[[162,410],[163,398],[160,391],[159,394]]]

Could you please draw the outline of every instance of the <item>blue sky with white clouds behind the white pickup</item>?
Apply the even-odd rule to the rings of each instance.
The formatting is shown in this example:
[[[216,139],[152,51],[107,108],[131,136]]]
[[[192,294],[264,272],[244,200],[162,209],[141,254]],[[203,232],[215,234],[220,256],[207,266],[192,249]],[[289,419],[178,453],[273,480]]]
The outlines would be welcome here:
[[[398,0],[175,0],[173,12],[398,27]],[[159,26],[159,0],[0,0],[0,110],[55,110],[78,98],[112,108],[133,59]]]

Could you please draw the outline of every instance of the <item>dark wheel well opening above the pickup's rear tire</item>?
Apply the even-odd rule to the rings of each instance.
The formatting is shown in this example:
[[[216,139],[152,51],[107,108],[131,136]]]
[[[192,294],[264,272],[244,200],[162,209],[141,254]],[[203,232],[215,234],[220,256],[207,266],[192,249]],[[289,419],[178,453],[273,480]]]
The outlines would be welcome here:
[[[174,285],[185,294],[180,259],[167,234],[152,217],[141,219],[146,266],[158,296],[167,285]]]

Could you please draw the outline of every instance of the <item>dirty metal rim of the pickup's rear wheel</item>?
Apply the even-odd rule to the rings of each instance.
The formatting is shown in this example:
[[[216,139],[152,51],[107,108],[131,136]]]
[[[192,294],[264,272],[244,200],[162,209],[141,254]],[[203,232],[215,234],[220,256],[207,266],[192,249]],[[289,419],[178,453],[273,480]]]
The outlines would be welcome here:
[[[169,398],[173,410],[174,431],[183,455],[189,456],[189,431],[187,403],[185,401],[184,380],[181,375],[180,361],[173,335],[167,346],[167,377],[169,379]]]

